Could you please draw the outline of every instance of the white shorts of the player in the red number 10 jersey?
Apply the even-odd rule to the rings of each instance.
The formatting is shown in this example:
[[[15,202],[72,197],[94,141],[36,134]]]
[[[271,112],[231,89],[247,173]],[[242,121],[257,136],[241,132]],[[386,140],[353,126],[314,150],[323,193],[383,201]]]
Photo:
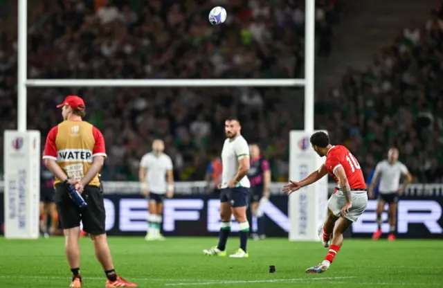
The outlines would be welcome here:
[[[368,206],[368,194],[366,192],[351,192],[352,207],[346,215],[346,219],[355,222]],[[340,217],[341,209],[345,206],[346,200],[343,192],[337,191],[327,201],[327,208]]]

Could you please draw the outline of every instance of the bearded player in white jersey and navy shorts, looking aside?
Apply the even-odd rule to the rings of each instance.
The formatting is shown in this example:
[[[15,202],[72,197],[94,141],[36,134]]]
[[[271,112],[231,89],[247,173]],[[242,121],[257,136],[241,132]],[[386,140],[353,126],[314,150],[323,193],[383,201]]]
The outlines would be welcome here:
[[[246,243],[248,242],[249,223],[246,217],[248,206],[248,192],[250,183],[249,170],[249,147],[246,140],[240,134],[239,120],[228,118],[225,121],[226,140],[221,151],[223,172],[221,174],[220,191],[220,218],[221,227],[219,244],[211,249],[205,249],[205,255],[226,256],[226,242],[230,233],[230,219],[234,215],[239,224],[240,248],[230,255],[233,258],[246,258]]]

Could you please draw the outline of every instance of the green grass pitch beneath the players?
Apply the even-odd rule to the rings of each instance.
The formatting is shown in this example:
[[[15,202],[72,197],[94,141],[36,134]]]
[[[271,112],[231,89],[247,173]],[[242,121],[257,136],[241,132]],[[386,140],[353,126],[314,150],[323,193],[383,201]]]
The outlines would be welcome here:
[[[249,258],[215,258],[202,249],[212,238],[110,237],[117,273],[139,287],[443,287],[443,242],[346,240],[332,267],[323,274],[305,269],[323,260],[319,243],[266,239],[249,242]],[[237,237],[228,252],[237,249]],[[0,287],[68,287],[64,240],[0,240]],[[105,287],[105,275],[93,256],[91,240],[81,240],[84,287]],[[268,273],[275,265],[277,273]]]

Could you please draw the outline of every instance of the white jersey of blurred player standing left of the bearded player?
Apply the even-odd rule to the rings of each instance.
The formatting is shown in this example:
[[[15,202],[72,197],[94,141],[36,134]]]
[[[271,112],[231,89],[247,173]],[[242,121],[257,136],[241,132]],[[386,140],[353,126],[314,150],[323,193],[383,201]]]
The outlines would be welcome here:
[[[166,172],[172,170],[172,160],[170,156],[164,153],[160,156],[155,156],[153,152],[150,152],[142,157],[140,165],[147,169],[147,190],[156,194],[165,194],[168,190]]]

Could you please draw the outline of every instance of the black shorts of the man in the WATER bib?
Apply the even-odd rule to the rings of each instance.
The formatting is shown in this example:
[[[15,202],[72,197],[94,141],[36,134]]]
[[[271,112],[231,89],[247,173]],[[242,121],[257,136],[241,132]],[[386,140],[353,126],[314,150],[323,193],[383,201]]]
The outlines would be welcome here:
[[[82,197],[88,206],[79,208],[69,197],[69,192],[64,184],[55,187],[55,204],[59,215],[62,229],[69,229],[80,226],[83,223],[83,230],[91,235],[105,234],[105,203],[100,188],[96,186],[84,187]]]

